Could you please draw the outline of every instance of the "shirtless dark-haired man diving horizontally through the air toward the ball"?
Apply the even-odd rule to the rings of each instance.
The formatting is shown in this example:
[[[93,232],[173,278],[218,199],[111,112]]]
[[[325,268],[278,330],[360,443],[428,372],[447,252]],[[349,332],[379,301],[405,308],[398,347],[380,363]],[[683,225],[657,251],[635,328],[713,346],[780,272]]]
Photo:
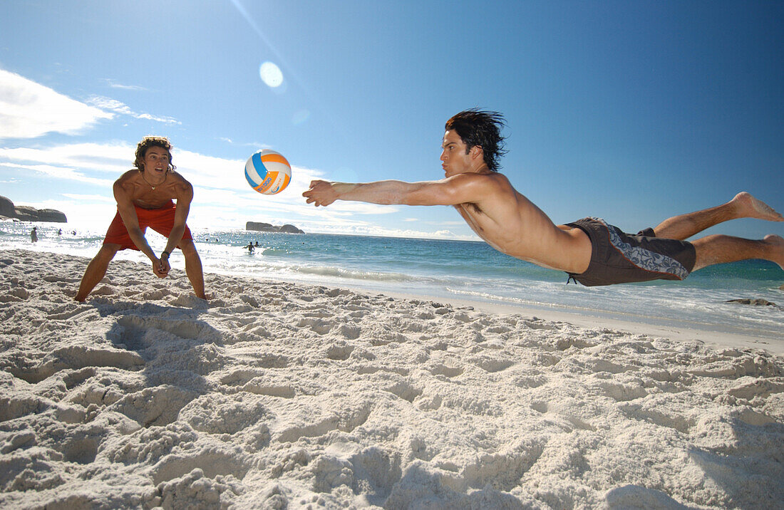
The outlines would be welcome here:
[[[637,235],[593,218],[555,225],[497,173],[498,158],[504,154],[502,126],[500,114],[481,110],[466,110],[449,119],[441,153],[445,179],[419,183],[315,180],[303,196],[317,207],[336,200],[452,205],[496,250],[565,271],[588,286],[683,280],[691,271],[744,259],[766,259],[784,269],[784,239],[779,236],[752,241],[710,235],[691,243],[685,241],[729,219],[784,221],[778,212],[745,192],[726,204],[666,219]]]

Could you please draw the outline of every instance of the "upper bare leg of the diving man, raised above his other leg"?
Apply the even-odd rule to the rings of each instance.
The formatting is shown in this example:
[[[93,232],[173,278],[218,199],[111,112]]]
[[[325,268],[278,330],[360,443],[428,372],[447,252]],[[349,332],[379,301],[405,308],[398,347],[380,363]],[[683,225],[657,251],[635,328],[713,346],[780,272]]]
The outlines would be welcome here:
[[[738,218],[767,219],[771,222],[784,221],[784,216],[775,212],[768,204],[742,191],[726,204],[665,219],[655,226],[653,231],[656,233],[656,237],[685,241],[695,233],[702,232],[711,226]]]

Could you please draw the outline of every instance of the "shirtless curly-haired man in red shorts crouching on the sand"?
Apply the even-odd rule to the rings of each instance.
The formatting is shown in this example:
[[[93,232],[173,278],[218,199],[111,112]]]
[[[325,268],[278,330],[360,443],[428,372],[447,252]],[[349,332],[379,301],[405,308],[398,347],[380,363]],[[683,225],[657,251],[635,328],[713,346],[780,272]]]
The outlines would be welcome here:
[[[130,248],[140,250],[152,262],[152,272],[159,278],[169,274],[169,255],[180,248],[185,256],[185,273],[191,280],[199,298],[205,299],[204,274],[201,270],[191,230],[185,224],[194,189],[183,176],[174,172],[172,144],[168,139],[147,136],[136,146],[136,170],[129,170],[114,182],[114,199],[117,214],[114,215],[103,246],[90,261],[82,277],[82,284],[74,297],[84,301],[90,291],[103,279],[114,255]],[[172,201],[176,199],[176,205]],[[169,238],[161,256],[155,255],[144,232],[150,226]]]

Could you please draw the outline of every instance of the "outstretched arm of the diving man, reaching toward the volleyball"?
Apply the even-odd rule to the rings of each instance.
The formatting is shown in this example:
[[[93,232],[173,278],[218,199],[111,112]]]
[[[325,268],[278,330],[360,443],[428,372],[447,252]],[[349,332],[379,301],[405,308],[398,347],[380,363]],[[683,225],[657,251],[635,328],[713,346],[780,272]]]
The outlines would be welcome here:
[[[490,183],[484,175],[454,175],[440,181],[406,183],[330,183],[315,180],[303,193],[308,204],[327,206],[337,200],[371,204],[456,205],[477,202],[486,196]]]

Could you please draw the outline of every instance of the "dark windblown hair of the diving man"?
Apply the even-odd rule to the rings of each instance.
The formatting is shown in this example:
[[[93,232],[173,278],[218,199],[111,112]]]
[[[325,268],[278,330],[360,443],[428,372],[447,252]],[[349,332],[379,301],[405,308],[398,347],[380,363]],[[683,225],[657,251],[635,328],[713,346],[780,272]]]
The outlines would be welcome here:
[[[446,121],[446,130],[454,130],[466,144],[466,154],[473,146],[480,146],[485,154],[485,165],[498,172],[498,160],[504,154],[504,137],[501,128],[506,125],[503,115],[497,111],[478,108],[463,110]]]

